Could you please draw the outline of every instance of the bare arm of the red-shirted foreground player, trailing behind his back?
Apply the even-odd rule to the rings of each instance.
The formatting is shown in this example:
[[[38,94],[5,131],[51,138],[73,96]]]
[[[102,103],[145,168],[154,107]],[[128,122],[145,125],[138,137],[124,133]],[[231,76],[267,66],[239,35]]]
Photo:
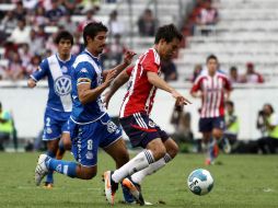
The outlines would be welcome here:
[[[117,92],[117,90],[124,85],[129,80],[129,74],[127,70],[124,70],[119,73],[119,76],[114,80],[113,84],[111,85],[109,90],[104,95],[104,103],[106,107],[108,107],[111,97]]]

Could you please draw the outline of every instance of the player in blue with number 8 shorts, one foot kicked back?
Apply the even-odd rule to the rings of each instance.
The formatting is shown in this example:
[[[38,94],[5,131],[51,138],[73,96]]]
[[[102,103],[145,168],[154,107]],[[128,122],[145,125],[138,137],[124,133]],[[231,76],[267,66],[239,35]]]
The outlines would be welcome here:
[[[83,30],[85,49],[71,68],[73,104],[69,129],[71,150],[77,162],[40,154],[35,169],[36,185],[39,185],[49,171],[81,180],[93,178],[97,172],[99,148],[103,148],[115,160],[117,167],[129,160],[121,130],[112,122],[101,94],[115,77],[130,65],[135,53],[127,50],[123,63],[112,70],[103,70],[99,58],[106,38],[105,25],[101,22],[89,23]]]

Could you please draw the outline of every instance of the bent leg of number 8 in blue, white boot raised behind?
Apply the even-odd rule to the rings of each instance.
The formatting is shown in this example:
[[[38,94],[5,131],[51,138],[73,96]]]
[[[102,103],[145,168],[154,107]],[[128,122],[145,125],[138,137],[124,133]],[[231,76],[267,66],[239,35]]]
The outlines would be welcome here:
[[[69,177],[91,180],[96,175],[99,137],[97,124],[77,125],[71,123],[72,153],[79,163],[53,159],[40,154],[35,170],[35,181],[39,185],[49,171],[56,171]],[[97,132],[97,134],[95,134]],[[94,138],[94,139],[92,139]]]

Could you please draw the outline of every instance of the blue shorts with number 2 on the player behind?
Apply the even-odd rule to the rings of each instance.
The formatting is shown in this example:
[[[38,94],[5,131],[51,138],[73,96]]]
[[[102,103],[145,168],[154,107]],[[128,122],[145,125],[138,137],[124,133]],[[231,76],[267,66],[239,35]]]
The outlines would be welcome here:
[[[47,107],[44,118],[43,140],[55,140],[60,138],[62,132],[69,131],[69,117],[70,112],[58,112]]]

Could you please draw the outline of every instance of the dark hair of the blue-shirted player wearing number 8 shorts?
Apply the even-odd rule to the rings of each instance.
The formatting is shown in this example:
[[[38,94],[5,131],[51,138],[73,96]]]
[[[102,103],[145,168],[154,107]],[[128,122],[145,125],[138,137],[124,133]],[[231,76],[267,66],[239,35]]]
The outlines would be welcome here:
[[[85,25],[83,30],[84,45],[86,46],[88,44],[86,36],[93,39],[100,32],[108,32],[108,28],[102,22],[91,22]]]

